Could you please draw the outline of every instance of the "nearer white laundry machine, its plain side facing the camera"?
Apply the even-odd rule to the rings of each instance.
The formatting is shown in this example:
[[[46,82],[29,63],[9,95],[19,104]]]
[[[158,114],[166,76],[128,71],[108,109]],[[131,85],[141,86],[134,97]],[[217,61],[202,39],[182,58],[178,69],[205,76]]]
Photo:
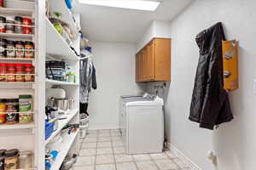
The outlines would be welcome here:
[[[124,100],[121,131],[126,154],[162,152],[164,145],[163,105],[163,99],[154,95]]]

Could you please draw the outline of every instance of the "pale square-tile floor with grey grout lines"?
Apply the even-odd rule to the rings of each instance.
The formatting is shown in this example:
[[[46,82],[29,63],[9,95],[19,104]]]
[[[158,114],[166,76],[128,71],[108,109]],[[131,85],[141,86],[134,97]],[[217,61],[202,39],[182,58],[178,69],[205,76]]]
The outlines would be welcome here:
[[[127,156],[120,132],[89,131],[80,139],[79,159],[74,170],[190,170],[170,150],[160,154]]]

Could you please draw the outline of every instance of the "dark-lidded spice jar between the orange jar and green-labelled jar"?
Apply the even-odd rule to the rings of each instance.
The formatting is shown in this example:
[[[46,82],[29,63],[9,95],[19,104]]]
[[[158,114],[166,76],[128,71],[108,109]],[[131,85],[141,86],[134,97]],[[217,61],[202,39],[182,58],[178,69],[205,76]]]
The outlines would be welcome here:
[[[19,122],[19,99],[6,99],[6,124]]]

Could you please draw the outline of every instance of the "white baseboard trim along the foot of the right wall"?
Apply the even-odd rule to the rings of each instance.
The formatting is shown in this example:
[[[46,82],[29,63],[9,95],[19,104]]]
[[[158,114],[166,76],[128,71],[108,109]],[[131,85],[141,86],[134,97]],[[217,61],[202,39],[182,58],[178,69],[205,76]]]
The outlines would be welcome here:
[[[193,161],[191,161],[188,156],[185,156],[182,151],[178,150],[177,147],[175,147],[173,144],[168,143],[168,147],[175,155],[177,155],[180,159],[192,167],[192,170],[202,170]]]

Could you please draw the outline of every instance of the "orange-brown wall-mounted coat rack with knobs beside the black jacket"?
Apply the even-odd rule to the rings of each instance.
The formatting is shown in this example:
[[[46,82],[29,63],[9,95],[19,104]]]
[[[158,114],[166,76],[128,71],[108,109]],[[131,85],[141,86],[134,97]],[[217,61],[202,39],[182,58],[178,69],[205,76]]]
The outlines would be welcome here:
[[[233,91],[239,88],[238,80],[238,41],[223,41],[224,89]]]

